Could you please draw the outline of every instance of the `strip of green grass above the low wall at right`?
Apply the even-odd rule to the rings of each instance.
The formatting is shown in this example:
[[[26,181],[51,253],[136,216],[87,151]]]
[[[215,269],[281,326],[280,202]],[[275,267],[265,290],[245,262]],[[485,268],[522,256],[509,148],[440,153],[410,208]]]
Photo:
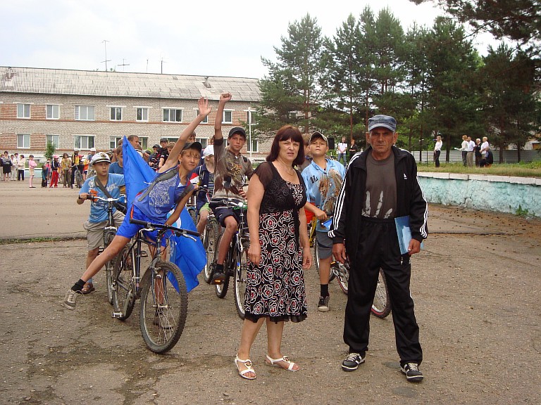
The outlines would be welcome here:
[[[464,167],[462,162],[442,163],[436,168],[433,162],[417,164],[418,172],[443,172],[464,174],[490,174],[492,176],[541,177],[541,160],[529,163],[495,163],[492,167]]]

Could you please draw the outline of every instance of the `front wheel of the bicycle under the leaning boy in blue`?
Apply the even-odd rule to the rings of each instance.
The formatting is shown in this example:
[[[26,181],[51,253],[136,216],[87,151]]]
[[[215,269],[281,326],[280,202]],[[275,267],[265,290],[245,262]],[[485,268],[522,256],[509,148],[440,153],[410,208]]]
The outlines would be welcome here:
[[[180,269],[170,262],[157,262],[141,283],[139,327],[147,347],[165,353],[182,335],[188,313],[188,293]]]

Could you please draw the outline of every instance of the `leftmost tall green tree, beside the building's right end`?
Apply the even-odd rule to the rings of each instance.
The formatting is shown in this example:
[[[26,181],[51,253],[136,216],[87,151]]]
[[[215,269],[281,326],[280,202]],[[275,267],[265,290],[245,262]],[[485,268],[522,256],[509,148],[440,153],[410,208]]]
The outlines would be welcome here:
[[[274,48],[277,63],[261,58],[269,70],[261,80],[258,131],[274,131],[281,124],[294,124],[308,132],[321,104],[325,81],[325,49],[321,27],[306,14],[287,28],[282,47]]]

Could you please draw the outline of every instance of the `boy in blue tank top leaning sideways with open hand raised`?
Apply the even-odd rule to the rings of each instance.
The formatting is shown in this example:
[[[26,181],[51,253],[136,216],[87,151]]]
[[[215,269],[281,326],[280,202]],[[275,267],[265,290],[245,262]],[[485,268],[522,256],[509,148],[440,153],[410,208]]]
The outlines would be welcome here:
[[[95,276],[106,262],[116,257],[139,229],[143,229],[141,225],[131,224],[130,218],[172,225],[180,217],[182,208],[195,189],[189,183],[188,174],[195,169],[201,159],[201,143],[186,143],[186,140],[212,110],[209,101],[202,97],[199,99],[198,108],[197,117],[182,131],[165,165],[156,172],[154,181],[132,201],[132,209],[118,228],[111,244],[94,259],[79,281],[68,290],[62,303],[64,307],[75,309],[77,294],[81,292],[83,285],[89,278]],[[173,209],[173,214],[167,217]],[[157,231],[148,237],[154,236],[155,239],[156,233]]]

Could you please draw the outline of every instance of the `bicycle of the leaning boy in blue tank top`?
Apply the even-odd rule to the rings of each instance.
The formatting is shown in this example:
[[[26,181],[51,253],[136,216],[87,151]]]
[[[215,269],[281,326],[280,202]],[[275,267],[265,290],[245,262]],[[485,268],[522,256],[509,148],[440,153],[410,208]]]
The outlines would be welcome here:
[[[174,226],[130,219],[144,226],[131,245],[126,245],[114,259],[113,318],[125,321],[132,314],[135,300],[141,300],[139,328],[147,347],[154,353],[165,353],[175,346],[184,330],[188,297],[186,283],[178,266],[161,260],[161,240],[166,233],[197,237],[199,233]],[[158,231],[155,241],[144,233]],[[141,276],[142,245],[148,245],[151,262]]]

